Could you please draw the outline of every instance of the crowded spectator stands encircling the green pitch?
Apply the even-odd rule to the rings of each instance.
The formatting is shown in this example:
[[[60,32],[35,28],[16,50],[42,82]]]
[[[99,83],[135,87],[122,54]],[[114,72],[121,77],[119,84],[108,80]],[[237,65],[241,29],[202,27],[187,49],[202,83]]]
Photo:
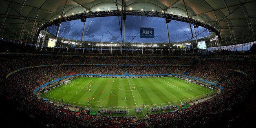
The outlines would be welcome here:
[[[55,57],[55,56],[54,56]],[[13,73],[6,79],[11,71],[28,66],[48,64],[192,64],[193,59],[157,59],[134,58],[116,59],[108,57],[94,57],[84,61],[84,57],[51,57],[51,55],[19,55],[1,54],[1,99],[4,103],[2,117],[10,122],[9,126],[23,125],[26,127],[210,127],[216,123],[229,127],[245,122],[252,122],[251,110],[254,99],[255,58],[243,57],[243,60],[203,60],[195,66],[157,66],[148,68],[144,66],[46,66],[29,68]],[[127,61],[128,60],[128,61]],[[223,63],[226,65],[223,66]],[[209,66],[210,64],[210,66]],[[72,68],[70,68],[72,67]],[[132,68],[132,70],[130,69]],[[221,69],[221,70],[219,70]],[[234,69],[244,71],[247,77]],[[205,70],[209,72],[205,72]],[[188,75],[202,77],[203,79],[226,81],[221,84],[224,90],[213,98],[195,103],[188,108],[175,112],[148,115],[146,120],[136,117],[97,116],[86,113],[77,113],[68,110],[65,106],[59,107],[45,103],[33,94],[33,90],[42,84],[66,76],[66,73],[115,73],[124,74],[152,74],[152,73],[179,73],[189,72]],[[239,112],[238,112],[239,110]],[[248,114],[248,115],[242,115]],[[11,124],[15,120],[15,124]],[[239,125],[241,125],[240,123]]]

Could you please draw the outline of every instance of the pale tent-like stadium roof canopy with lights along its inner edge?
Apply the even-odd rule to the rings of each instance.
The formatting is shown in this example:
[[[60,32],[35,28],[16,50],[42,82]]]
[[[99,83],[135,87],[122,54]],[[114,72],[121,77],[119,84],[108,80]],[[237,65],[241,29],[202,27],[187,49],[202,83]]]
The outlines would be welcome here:
[[[255,40],[256,0],[1,0],[0,4],[0,36],[13,40],[22,37],[36,42],[38,28],[59,18],[62,11],[74,15],[117,10],[122,5],[126,10],[131,7],[183,17],[188,13],[219,30],[221,46]]]

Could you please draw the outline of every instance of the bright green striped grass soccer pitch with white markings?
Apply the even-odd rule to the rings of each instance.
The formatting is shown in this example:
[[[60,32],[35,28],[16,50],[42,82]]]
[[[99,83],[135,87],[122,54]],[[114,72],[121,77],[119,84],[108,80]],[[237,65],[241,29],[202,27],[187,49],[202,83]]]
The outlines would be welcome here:
[[[99,108],[127,108],[128,115],[138,116],[138,113],[132,110],[137,107],[142,108],[142,103],[146,104],[146,107],[170,104],[177,106],[181,102],[192,101],[213,93],[216,91],[198,84],[190,84],[177,77],[77,77],[72,79],[71,83],[49,90],[41,97],[60,103],[63,99],[64,104],[73,106],[91,107],[92,112],[95,113]],[[142,115],[145,115],[144,113],[146,112],[143,111]]]

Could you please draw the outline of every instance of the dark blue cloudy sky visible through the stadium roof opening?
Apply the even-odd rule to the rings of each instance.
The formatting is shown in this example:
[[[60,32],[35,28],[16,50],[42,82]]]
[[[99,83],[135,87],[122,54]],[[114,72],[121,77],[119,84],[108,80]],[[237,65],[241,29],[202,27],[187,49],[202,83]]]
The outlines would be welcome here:
[[[168,42],[168,33],[164,18],[127,15],[125,33],[122,32],[122,35],[119,26],[121,25],[121,22],[119,24],[119,20],[121,20],[121,17],[118,18],[117,16],[86,19],[83,40],[97,42],[122,42],[123,35],[125,34],[125,42]],[[80,20],[63,22],[61,24],[59,36],[71,40],[81,40],[83,26],[84,22],[81,22]],[[139,38],[139,27],[154,28],[154,39]],[[170,42],[186,41],[191,38],[191,31],[188,23],[171,20],[171,22],[168,23],[168,29]],[[208,36],[207,31],[201,33],[203,30],[204,28],[196,28],[198,38]],[[51,33],[55,35],[56,31],[57,26],[53,25],[51,27]],[[195,35],[194,30],[193,35]]]

